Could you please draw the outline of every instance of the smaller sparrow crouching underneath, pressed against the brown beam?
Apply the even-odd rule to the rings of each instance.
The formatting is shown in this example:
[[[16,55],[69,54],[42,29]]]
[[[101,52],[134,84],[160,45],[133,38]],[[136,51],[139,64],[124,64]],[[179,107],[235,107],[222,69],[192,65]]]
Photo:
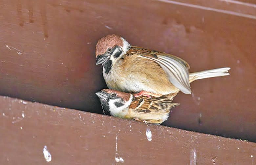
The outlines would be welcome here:
[[[105,115],[148,124],[160,125],[168,119],[170,108],[179,105],[166,97],[134,97],[131,93],[111,89],[103,89],[95,94]]]

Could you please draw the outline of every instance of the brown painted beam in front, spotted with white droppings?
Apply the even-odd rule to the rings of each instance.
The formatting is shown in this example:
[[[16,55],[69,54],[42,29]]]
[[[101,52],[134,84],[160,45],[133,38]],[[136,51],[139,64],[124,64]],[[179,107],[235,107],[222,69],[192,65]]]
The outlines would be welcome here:
[[[44,164],[44,146],[51,154],[50,164],[63,165],[253,165],[256,161],[252,142],[9,97],[0,97],[0,113],[0,164]],[[146,130],[152,133],[151,141]],[[116,155],[124,162],[116,162]]]

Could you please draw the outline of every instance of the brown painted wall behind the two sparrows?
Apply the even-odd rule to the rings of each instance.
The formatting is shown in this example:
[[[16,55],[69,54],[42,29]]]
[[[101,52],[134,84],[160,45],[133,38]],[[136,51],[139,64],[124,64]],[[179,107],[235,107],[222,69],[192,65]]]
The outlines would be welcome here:
[[[94,49],[115,33],[185,59],[191,72],[231,67],[179,93],[164,124],[256,141],[256,10],[243,2],[0,0],[0,94],[102,113]]]

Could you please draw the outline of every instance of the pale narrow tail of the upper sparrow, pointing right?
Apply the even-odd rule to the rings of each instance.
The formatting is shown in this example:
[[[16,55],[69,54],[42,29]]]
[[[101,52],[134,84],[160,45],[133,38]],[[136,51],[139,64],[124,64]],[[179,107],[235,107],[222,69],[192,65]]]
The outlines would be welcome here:
[[[210,69],[206,71],[190,73],[189,82],[191,83],[195,80],[200,80],[204,78],[227,76],[229,75],[228,70],[230,70],[230,68],[225,67],[225,68],[217,68],[217,69]]]

